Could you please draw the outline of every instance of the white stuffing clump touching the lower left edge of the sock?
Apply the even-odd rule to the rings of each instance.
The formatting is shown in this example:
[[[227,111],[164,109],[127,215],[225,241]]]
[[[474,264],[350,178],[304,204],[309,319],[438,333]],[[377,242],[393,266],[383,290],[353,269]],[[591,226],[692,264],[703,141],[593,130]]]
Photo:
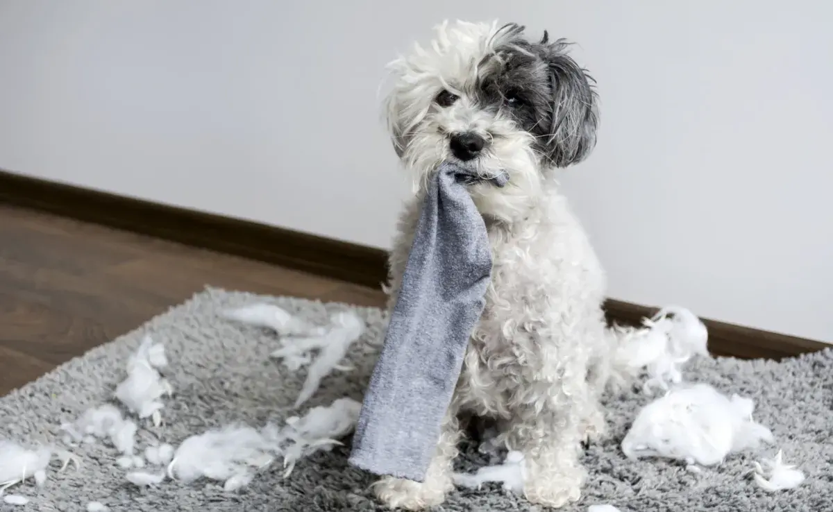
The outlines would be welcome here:
[[[297,460],[318,450],[332,450],[338,439],[349,434],[359,419],[362,404],[351,398],[340,398],[328,407],[318,406],[302,418],[293,416],[280,433],[265,432],[273,442],[285,445],[283,451],[284,476],[292,473]],[[268,428],[267,428],[268,429]]]

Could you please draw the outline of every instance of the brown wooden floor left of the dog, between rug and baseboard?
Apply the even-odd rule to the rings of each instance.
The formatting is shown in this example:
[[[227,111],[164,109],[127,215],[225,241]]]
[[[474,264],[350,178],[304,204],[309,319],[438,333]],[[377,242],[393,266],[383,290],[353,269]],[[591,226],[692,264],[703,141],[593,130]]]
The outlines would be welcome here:
[[[382,306],[382,291],[0,204],[0,395],[205,286]]]

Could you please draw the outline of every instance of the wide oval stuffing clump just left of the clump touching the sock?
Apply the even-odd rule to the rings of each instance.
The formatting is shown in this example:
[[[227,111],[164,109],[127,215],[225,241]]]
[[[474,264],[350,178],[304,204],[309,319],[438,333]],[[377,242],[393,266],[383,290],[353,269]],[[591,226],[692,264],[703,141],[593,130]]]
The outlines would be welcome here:
[[[240,480],[242,475],[272,464],[275,451],[276,447],[252,427],[208,430],[192,435],[179,445],[167,466],[167,475],[186,483],[201,477]]]

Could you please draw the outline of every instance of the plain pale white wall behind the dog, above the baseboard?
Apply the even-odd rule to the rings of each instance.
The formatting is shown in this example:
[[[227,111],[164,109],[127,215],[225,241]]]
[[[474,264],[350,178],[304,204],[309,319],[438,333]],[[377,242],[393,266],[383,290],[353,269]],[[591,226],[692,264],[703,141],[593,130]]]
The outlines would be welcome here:
[[[499,17],[600,83],[563,183],[611,296],[833,341],[833,4],[514,5],[0,0],[0,167],[387,247],[384,64]]]

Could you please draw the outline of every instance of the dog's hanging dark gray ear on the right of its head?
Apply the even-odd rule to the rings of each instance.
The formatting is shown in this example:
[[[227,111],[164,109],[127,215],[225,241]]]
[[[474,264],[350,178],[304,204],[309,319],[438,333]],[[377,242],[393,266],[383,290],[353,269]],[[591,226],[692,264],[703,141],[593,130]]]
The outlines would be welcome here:
[[[549,156],[556,167],[567,167],[584,160],[596,147],[596,81],[567,55],[568,42],[547,40],[545,33],[539,47],[550,73],[552,94]]]

